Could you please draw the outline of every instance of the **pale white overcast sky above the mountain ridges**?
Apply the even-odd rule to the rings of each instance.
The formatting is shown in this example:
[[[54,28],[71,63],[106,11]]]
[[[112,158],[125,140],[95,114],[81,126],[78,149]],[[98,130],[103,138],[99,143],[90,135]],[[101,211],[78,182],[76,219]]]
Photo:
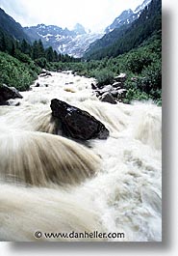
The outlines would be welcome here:
[[[72,29],[76,23],[98,32],[122,11],[133,11],[143,0],[0,0],[0,8],[22,26],[44,23]]]

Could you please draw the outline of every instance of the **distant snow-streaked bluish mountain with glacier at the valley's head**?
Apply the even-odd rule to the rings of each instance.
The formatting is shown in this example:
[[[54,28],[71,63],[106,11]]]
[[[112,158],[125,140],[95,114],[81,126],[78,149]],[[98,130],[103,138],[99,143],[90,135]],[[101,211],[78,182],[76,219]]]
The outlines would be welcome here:
[[[24,32],[32,41],[41,40],[44,46],[52,46],[59,53],[81,58],[89,48],[89,44],[101,38],[103,34],[87,33],[85,28],[77,23],[73,30],[59,26],[38,24],[25,27]]]

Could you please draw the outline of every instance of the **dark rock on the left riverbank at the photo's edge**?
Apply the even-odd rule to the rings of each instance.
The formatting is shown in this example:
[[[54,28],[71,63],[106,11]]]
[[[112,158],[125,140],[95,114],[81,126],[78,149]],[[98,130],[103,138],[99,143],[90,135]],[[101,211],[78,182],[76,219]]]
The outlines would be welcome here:
[[[6,84],[0,86],[0,104],[6,104],[10,99],[22,99],[23,97],[14,87],[8,87]]]

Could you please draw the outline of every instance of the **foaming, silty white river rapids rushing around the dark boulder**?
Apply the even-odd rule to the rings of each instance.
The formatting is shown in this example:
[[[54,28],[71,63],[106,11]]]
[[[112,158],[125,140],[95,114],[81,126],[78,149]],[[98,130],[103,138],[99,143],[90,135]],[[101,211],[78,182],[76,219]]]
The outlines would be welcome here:
[[[0,241],[66,241],[38,240],[36,231],[122,232],[124,238],[94,241],[162,241],[161,107],[101,102],[92,78],[51,74],[38,76],[22,100],[0,106]],[[52,99],[88,111],[110,137],[82,145],[57,134]]]

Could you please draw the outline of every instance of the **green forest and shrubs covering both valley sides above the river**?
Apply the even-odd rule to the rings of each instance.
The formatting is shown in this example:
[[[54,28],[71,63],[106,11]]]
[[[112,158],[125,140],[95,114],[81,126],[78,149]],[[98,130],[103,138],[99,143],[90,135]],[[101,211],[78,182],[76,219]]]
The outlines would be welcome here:
[[[112,84],[114,76],[124,72],[127,93],[123,102],[153,100],[161,105],[161,7],[160,0],[153,0],[132,25],[115,29],[93,43],[82,59],[60,54],[51,46],[45,48],[40,40],[17,41],[0,28],[0,86],[5,83],[21,91],[28,90],[41,69],[70,70],[94,77],[103,86]]]

